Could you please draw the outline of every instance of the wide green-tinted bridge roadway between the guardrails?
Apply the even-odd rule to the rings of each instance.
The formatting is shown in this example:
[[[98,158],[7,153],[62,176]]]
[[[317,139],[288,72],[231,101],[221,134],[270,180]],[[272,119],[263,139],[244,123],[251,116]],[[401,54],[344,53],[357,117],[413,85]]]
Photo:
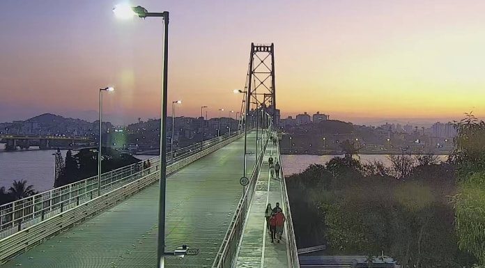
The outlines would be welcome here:
[[[248,148],[255,146],[249,135]],[[242,193],[244,139],[186,166],[167,180],[167,251],[187,244],[197,256],[167,258],[166,267],[210,267]],[[252,150],[249,149],[249,152]],[[249,155],[247,171],[254,166]],[[158,185],[94,216],[2,267],[156,267]]]

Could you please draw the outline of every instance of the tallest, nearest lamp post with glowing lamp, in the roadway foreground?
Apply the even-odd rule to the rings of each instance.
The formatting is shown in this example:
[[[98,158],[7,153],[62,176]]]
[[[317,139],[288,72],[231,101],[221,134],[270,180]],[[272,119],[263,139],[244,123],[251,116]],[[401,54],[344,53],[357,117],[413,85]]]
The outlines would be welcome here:
[[[165,191],[167,187],[167,78],[168,78],[168,59],[169,59],[169,12],[149,13],[146,8],[141,6],[130,7],[118,5],[113,8],[118,17],[162,17],[164,22],[164,44],[163,44],[163,74],[162,74],[162,96],[160,111],[160,199],[158,210],[158,247],[157,247],[157,267],[163,268],[165,255]]]

